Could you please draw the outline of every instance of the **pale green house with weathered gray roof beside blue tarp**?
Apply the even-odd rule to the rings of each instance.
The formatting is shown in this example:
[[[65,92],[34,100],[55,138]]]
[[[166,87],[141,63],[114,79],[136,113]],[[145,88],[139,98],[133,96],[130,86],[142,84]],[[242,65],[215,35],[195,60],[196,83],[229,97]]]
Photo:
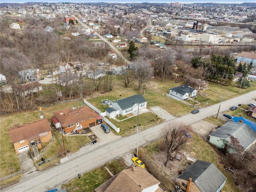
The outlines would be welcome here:
[[[236,152],[234,139],[244,150],[256,143],[256,132],[247,124],[226,122],[209,135],[209,142],[227,152]]]

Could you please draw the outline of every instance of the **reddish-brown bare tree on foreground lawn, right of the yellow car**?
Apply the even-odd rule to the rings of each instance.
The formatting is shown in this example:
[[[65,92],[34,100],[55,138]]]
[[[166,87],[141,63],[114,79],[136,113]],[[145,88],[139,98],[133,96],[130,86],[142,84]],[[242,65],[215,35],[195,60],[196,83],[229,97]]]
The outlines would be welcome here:
[[[170,122],[162,129],[162,137],[164,138],[167,158],[165,166],[168,166],[168,162],[173,160],[172,152],[178,150],[182,144],[187,140],[187,137],[184,134],[185,125],[179,122]]]

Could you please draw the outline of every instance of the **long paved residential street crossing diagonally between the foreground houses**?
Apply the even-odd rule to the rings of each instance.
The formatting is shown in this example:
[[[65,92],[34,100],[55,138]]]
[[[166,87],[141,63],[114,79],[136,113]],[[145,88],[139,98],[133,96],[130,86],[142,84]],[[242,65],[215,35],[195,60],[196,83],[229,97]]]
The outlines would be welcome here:
[[[220,108],[221,112],[228,110],[233,105],[248,104],[255,100],[256,91],[232,98],[230,100],[223,101]],[[170,121],[183,122],[184,124],[191,125],[204,118],[216,115],[220,104],[215,104],[207,108],[200,109],[198,114],[187,114],[180,118],[166,121],[157,126],[151,127],[147,130],[140,132],[138,135],[139,146],[144,146],[150,142],[160,138],[160,130]],[[175,109],[173,109],[175,110]],[[135,122],[134,122],[135,123]],[[106,135],[107,136],[107,135]],[[98,144],[98,143],[97,143]],[[15,184],[9,188],[1,190],[2,192],[24,192],[24,191],[36,191],[44,192],[46,190],[59,187],[61,184],[68,182],[72,178],[78,179],[78,174],[81,172],[88,172],[110,160],[114,160],[120,156],[131,152],[137,147],[137,135],[131,135],[129,137],[117,138],[105,145],[85,146],[83,154],[77,158],[71,159],[63,164],[60,164],[50,170],[44,172],[32,172],[27,174],[25,178],[18,184]]]

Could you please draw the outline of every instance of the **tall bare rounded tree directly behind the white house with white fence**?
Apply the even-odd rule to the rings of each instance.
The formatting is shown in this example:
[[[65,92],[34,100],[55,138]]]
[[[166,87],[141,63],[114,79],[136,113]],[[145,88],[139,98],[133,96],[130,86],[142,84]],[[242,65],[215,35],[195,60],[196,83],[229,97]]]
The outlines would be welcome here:
[[[149,60],[144,57],[138,58],[134,62],[134,66],[136,70],[136,78],[138,80],[138,90],[140,90],[141,86],[143,86],[143,88],[146,88],[151,78],[153,77],[154,68],[151,66]]]

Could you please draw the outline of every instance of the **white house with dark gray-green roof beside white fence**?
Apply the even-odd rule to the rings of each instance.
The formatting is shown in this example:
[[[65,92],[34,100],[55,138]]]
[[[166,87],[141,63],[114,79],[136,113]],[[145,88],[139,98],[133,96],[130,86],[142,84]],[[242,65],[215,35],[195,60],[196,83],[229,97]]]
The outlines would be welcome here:
[[[147,108],[146,99],[142,95],[133,95],[113,101],[110,108],[107,108],[105,111],[109,118],[113,118],[118,114],[124,116],[143,108]]]

